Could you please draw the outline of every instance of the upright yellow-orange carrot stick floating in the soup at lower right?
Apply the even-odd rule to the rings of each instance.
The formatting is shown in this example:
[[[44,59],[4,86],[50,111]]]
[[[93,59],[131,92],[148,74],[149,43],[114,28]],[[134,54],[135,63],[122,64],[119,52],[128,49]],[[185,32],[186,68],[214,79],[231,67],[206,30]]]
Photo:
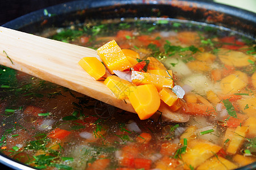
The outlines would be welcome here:
[[[229,154],[236,154],[245,139],[248,129],[247,126],[237,126],[226,152]]]

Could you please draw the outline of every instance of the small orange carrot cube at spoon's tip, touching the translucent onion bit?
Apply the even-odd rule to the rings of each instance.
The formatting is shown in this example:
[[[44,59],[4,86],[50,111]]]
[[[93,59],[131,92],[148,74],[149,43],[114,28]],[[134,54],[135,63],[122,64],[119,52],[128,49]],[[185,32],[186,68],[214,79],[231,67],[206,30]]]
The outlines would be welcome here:
[[[164,101],[168,106],[174,105],[178,99],[177,95],[172,92],[171,88],[164,87],[159,92],[160,99]]]

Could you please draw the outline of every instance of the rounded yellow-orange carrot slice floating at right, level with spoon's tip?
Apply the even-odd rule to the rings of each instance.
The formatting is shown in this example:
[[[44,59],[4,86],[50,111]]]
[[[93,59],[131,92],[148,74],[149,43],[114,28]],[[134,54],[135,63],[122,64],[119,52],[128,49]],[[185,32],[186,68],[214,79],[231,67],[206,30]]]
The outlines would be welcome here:
[[[243,82],[238,76],[234,74],[230,74],[221,80],[220,86],[221,90],[224,94],[234,94],[246,87],[246,83]]]

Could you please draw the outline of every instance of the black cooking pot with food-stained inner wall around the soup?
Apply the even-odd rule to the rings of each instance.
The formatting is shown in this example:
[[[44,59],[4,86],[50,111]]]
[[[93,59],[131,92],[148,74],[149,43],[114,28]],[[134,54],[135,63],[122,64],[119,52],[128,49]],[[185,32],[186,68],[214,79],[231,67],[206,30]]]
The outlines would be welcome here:
[[[199,24],[218,25],[237,33],[256,38],[256,14],[240,8],[201,1],[150,0],[84,0],[31,12],[2,26],[23,32],[41,32],[43,29],[65,27],[65,23],[84,23],[89,19],[148,18],[165,16],[183,18]],[[13,169],[34,169],[0,154],[0,163]],[[256,162],[238,169],[256,169]]]

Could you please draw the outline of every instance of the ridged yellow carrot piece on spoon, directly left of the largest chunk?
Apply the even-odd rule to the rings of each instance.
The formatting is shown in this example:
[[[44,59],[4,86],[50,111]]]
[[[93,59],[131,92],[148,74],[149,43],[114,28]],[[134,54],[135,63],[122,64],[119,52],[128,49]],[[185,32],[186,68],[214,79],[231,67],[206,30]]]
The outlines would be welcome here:
[[[118,99],[125,99],[127,94],[129,94],[129,87],[133,86],[132,83],[115,75],[108,76],[108,78],[106,78],[103,83],[109,88],[109,90],[113,92],[113,94]]]

